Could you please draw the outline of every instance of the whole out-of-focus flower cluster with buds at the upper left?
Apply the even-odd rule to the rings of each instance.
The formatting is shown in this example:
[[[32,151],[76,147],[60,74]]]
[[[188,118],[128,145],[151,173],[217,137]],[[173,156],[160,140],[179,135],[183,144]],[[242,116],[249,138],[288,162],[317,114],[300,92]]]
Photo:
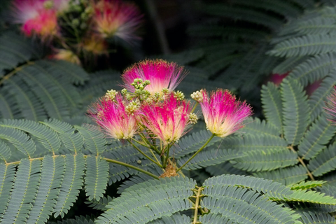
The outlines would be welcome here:
[[[73,55],[106,55],[107,38],[139,39],[142,15],[121,0],[13,0],[12,5],[13,22],[26,36],[52,43],[55,59],[78,64]]]

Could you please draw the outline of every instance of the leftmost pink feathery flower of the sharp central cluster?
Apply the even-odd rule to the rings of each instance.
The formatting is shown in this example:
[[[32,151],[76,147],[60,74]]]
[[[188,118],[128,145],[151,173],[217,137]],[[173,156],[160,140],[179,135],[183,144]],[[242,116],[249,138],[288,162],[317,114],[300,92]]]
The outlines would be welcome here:
[[[137,132],[137,107],[125,101],[120,93],[113,100],[102,98],[88,113],[107,135],[115,139],[130,139]]]

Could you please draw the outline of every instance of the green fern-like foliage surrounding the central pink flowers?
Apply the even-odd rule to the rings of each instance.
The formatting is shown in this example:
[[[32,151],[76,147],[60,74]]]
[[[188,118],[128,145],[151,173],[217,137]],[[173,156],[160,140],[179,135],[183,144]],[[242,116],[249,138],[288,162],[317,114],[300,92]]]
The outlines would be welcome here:
[[[119,72],[45,59],[36,40],[1,31],[0,223],[336,222],[336,127],[323,111],[336,83],[335,2],[199,7],[192,47],[160,56],[186,66],[186,97],[227,87],[259,102],[262,78],[288,76],[261,86],[262,115],[256,107],[239,132],[210,141],[201,121],[172,144],[172,164],[192,159],[174,177],[158,178],[148,148],[82,125]],[[88,216],[76,214],[83,204]]]

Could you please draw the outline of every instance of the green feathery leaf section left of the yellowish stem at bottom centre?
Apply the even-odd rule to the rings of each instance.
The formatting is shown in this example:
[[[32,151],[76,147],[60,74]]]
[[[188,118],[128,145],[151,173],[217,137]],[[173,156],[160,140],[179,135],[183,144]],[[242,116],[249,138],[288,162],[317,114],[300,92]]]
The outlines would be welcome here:
[[[195,181],[176,177],[139,183],[110,202],[97,223],[148,223],[190,209],[193,188]]]

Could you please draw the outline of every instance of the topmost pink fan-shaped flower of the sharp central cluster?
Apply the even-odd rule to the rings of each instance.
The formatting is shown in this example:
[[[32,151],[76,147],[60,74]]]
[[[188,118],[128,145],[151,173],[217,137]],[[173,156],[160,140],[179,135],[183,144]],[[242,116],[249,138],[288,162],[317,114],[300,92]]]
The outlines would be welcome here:
[[[145,90],[155,94],[162,93],[164,88],[172,92],[181,80],[186,76],[183,67],[177,66],[174,62],[166,62],[162,59],[145,60],[134,64],[123,73],[124,87],[130,92],[134,92],[134,87],[131,85],[135,78],[149,80],[150,85],[145,87]]]

